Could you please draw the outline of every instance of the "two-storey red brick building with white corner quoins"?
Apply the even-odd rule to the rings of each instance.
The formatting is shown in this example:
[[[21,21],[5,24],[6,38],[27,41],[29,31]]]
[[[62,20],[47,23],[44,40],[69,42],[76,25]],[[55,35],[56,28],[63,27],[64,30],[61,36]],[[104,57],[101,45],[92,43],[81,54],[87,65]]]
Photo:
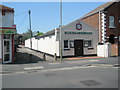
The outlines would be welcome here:
[[[99,44],[110,43],[120,55],[120,1],[108,2],[81,18],[99,31]],[[117,47],[117,48],[116,48]]]

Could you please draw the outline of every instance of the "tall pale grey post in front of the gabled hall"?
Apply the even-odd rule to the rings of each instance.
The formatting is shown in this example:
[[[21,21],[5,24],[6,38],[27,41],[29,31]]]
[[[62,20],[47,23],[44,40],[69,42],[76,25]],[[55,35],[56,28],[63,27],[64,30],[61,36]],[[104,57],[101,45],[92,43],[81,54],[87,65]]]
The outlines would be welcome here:
[[[60,0],[60,61],[62,61],[62,0]]]

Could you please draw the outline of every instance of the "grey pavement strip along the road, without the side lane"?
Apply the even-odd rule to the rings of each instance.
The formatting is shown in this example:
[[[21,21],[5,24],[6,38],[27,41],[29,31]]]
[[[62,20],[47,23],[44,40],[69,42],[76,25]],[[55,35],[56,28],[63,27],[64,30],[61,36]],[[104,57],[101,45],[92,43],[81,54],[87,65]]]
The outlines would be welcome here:
[[[85,58],[77,60],[63,59],[60,61],[39,61],[38,63],[27,63],[27,64],[3,64],[0,65],[1,74],[13,74],[13,73],[25,73],[31,70],[47,70],[56,68],[67,68],[67,67],[119,67],[119,57],[109,58]]]

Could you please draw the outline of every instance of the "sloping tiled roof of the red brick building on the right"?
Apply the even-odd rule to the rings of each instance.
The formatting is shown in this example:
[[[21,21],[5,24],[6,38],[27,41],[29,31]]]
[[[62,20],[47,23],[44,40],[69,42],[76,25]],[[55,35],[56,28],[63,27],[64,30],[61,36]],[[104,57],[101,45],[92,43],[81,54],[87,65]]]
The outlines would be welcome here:
[[[84,18],[86,18],[88,16],[91,16],[91,15],[93,15],[95,13],[98,13],[99,11],[102,11],[102,10],[106,9],[107,7],[109,7],[110,5],[112,5],[113,3],[114,2],[107,2],[107,3],[103,4],[103,5],[95,8],[94,10],[92,10],[91,12],[89,12],[88,14],[84,15],[83,17],[81,17],[81,19],[84,19]]]

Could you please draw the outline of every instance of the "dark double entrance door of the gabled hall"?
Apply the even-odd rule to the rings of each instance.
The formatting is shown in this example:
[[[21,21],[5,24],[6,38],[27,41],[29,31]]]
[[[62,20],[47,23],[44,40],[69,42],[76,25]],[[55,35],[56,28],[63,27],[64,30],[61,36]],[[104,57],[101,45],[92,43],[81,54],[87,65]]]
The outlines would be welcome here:
[[[83,40],[74,41],[75,56],[83,56]]]

